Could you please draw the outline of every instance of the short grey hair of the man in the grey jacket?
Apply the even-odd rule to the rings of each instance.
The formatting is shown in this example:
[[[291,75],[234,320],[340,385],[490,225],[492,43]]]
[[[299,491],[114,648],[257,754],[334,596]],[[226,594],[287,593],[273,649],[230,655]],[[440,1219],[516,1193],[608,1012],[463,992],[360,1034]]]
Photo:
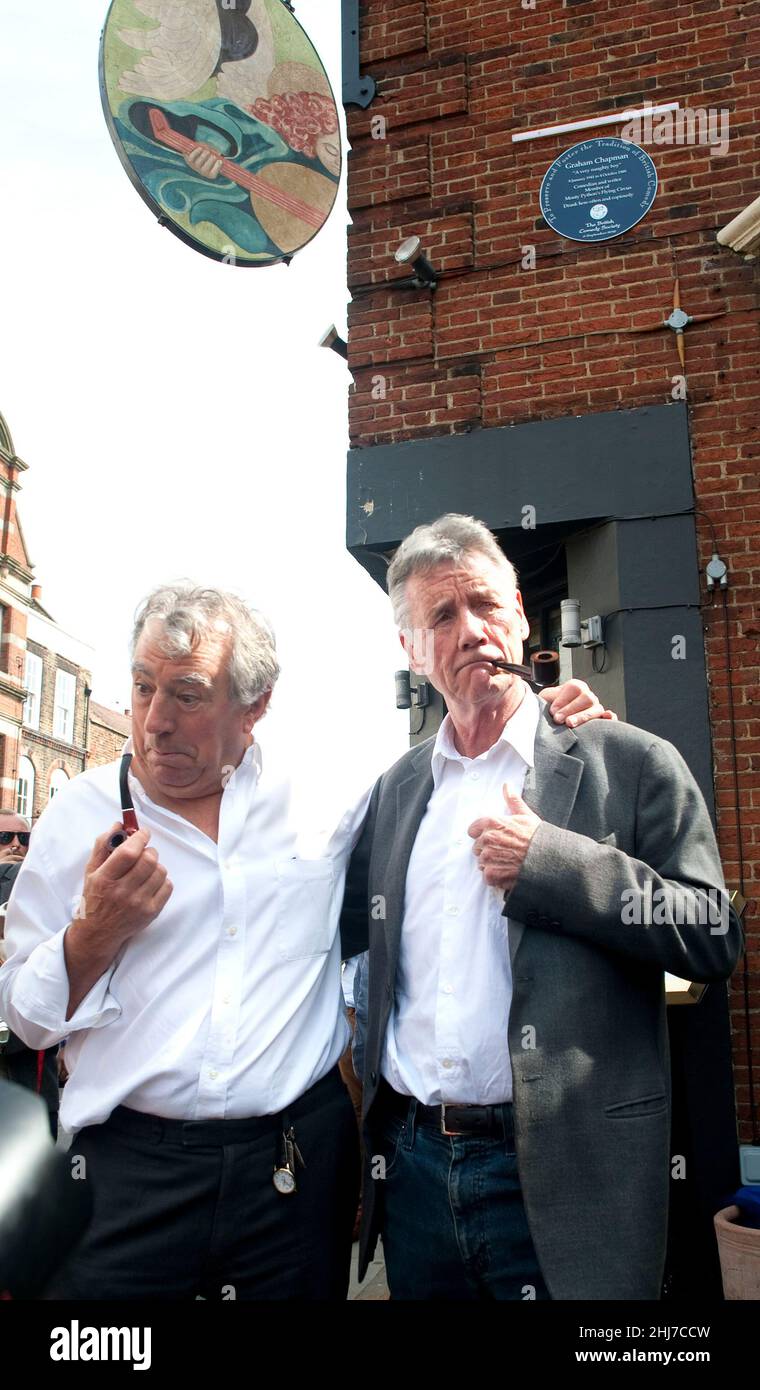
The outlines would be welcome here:
[[[396,626],[410,626],[406,587],[413,574],[427,574],[438,564],[457,564],[470,555],[485,555],[493,560],[504,571],[510,588],[517,589],[517,570],[485,523],[447,512],[429,525],[415,527],[388,566],[388,594]]]

